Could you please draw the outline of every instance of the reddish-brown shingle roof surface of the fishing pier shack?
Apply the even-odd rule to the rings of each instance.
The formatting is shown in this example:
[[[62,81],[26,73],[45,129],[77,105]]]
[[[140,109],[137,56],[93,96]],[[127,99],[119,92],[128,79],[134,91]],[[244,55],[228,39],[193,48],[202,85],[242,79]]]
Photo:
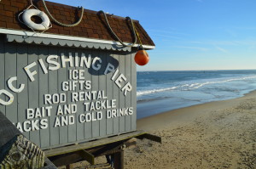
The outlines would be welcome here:
[[[33,2],[40,10],[45,12],[42,0]],[[64,24],[73,24],[79,20],[81,10],[72,6],[63,5],[60,3],[46,2],[50,14],[56,20]],[[18,20],[18,15],[30,5],[29,0],[2,0],[0,1],[0,27],[7,29],[15,29],[22,31],[31,31],[26,25],[23,25]],[[123,42],[133,42],[131,24],[129,20],[119,16],[109,16],[109,24],[113,31]],[[88,37],[102,40],[117,41],[114,39],[111,32],[108,30],[103,14],[97,14],[96,11],[84,9],[84,16],[81,23],[74,27],[63,27],[56,25],[52,21],[53,27],[47,32],[53,34],[61,34],[74,37]],[[137,20],[134,20],[134,25],[144,45],[154,46],[154,42],[148,36],[148,33],[143,29],[142,25]]]

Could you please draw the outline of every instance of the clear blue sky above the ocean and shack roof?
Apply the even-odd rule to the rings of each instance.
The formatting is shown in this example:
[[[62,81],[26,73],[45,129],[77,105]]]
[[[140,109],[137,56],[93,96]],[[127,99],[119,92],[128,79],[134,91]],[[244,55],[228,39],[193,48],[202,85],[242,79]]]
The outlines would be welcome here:
[[[139,20],[156,48],[137,70],[256,68],[255,0],[50,0]]]

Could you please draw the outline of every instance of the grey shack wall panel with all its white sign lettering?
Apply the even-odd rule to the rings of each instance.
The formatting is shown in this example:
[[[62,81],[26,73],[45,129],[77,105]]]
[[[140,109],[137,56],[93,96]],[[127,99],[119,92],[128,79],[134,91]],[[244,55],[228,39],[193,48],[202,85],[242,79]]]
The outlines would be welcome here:
[[[14,115],[8,107],[18,110],[10,118],[20,132],[47,149],[135,130],[133,55],[64,51],[32,54],[33,58],[29,51],[23,56],[0,54],[1,61],[13,59],[8,64],[16,65],[15,74],[7,76],[5,66],[1,75],[5,85],[0,86],[0,109],[6,116]],[[26,65],[19,65],[19,57],[27,60]],[[27,100],[21,100],[21,95]]]

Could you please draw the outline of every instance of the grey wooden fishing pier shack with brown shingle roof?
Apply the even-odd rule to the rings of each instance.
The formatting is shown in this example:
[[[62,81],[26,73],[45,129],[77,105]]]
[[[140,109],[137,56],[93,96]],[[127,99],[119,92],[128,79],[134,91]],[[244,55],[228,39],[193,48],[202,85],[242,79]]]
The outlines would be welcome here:
[[[79,8],[46,3],[62,23],[81,14]],[[33,4],[45,11],[41,0]],[[0,1],[0,111],[41,149],[136,131],[137,44],[120,45],[103,15],[87,9],[79,25],[51,20],[49,30],[34,32],[19,21],[30,5]],[[108,21],[123,42],[133,42],[129,20],[108,15]],[[154,48],[133,21],[143,48]]]

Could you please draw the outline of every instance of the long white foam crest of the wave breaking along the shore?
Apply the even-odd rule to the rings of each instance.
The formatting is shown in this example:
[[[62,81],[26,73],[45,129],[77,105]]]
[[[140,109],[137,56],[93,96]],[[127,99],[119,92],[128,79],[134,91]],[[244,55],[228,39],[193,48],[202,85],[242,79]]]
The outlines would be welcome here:
[[[172,90],[176,90],[176,89],[193,90],[193,89],[204,87],[206,85],[211,85],[211,84],[243,81],[243,80],[249,80],[249,79],[255,79],[255,78],[256,78],[256,76],[246,76],[246,77],[241,77],[241,78],[226,79],[223,81],[212,81],[212,82],[201,82],[201,83],[195,82],[195,83],[190,83],[190,84],[188,83],[188,84],[178,85],[175,87],[166,87],[166,88],[157,88],[157,89],[152,89],[152,90],[137,91],[137,96],[147,95],[150,93],[161,93],[161,92],[172,91]]]

